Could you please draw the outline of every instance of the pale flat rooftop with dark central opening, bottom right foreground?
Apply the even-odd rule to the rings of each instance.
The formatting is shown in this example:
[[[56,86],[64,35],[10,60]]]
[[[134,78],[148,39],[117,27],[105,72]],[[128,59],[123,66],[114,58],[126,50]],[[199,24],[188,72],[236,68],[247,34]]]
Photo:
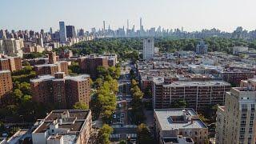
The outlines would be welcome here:
[[[193,109],[155,109],[154,113],[162,130],[207,128],[200,119],[186,119],[198,116]]]

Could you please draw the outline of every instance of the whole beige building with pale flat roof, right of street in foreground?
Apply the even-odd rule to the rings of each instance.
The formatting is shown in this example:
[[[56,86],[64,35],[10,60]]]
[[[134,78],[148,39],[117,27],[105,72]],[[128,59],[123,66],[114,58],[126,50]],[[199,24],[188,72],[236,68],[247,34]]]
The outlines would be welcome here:
[[[160,144],[178,143],[181,137],[186,143],[204,144],[208,136],[207,126],[193,109],[154,109],[154,128]]]

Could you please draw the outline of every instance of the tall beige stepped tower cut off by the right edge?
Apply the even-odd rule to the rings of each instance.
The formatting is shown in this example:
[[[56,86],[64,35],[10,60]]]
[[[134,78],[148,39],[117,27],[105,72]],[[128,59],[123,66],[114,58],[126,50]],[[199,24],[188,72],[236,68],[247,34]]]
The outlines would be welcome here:
[[[256,142],[256,79],[241,81],[226,93],[225,106],[218,106],[216,143]]]

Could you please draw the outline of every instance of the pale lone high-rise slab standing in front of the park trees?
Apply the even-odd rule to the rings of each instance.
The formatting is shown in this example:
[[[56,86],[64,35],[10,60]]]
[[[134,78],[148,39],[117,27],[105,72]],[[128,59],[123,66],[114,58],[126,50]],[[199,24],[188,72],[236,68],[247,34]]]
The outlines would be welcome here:
[[[154,38],[143,40],[143,59],[150,60],[154,57]]]

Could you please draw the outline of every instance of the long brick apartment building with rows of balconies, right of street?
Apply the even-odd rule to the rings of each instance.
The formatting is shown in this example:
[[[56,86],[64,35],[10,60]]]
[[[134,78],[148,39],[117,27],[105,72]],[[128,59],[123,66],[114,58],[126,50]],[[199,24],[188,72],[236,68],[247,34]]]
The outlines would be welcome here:
[[[163,78],[154,78],[154,109],[170,108],[171,102],[185,100],[188,107],[204,110],[209,105],[224,104],[230,84],[222,81],[172,82],[166,84]]]

